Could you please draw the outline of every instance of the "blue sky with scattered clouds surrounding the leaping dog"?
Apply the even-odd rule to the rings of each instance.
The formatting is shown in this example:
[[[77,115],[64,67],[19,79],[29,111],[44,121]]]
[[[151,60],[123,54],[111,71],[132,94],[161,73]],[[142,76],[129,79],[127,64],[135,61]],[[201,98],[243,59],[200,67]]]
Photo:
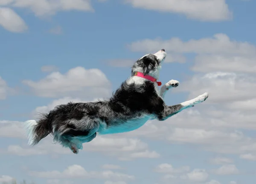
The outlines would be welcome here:
[[[0,0],[0,184],[255,184],[255,0]],[[22,122],[107,99],[167,52],[165,96],[209,98],[164,122],[97,136],[79,154]]]

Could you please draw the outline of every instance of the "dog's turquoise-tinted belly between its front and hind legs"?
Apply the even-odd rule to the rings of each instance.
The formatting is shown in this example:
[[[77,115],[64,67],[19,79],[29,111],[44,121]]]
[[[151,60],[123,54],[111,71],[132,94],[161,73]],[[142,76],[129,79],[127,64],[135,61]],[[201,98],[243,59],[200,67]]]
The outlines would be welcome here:
[[[111,123],[111,126],[107,126],[105,122],[101,122],[98,133],[112,134],[130,132],[143,126],[149,119],[151,119],[151,116],[144,116],[138,119],[129,120],[127,122],[113,122]]]

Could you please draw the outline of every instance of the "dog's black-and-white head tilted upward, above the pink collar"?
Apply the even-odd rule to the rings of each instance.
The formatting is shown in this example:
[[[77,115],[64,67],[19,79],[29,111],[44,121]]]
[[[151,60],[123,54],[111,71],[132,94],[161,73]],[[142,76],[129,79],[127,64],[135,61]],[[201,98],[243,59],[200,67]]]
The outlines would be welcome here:
[[[166,52],[164,49],[155,54],[147,54],[141,57],[132,66],[131,75],[134,76],[136,72],[141,72],[144,75],[150,75],[158,79],[161,63],[164,61],[165,57]]]

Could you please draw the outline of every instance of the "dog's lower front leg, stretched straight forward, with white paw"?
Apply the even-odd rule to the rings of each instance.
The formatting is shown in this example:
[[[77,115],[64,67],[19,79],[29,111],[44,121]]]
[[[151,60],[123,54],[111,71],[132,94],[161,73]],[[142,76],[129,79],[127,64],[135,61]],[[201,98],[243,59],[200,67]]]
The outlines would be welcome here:
[[[192,100],[188,100],[186,102],[182,102],[177,105],[172,105],[172,106],[166,106],[162,112],[162,114],[158,115],[157,119],[159,121],[164,121],[168,119],[169,117],[179,113],[181,110],[184,110],[186,108],[193,107],[195,104],[204,102],[208,98],[208,93],[204,93]]]

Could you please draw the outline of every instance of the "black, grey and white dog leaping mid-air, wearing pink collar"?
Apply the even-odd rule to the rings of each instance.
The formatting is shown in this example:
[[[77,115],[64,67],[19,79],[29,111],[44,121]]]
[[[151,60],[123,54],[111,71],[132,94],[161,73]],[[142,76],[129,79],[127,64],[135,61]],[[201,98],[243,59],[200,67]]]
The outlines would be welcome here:
[[[136,130],[148,120],[164,121],[181,110],[204,102],[208,93],[177,105],[165,104],[166,91],[180,84],[177,80],[170,80],[158,90],[161,83],[157,80],[165,58],[165,49],[161,49],[138,59],[131,68],[131,76],[122,82],[110,99],[69,102],[41,114],[38,121],[24,122],[28,144],[34,146],[51,134],[55,143],[77,154],[83,148],[82,144],[92,141],[97,134]]]

